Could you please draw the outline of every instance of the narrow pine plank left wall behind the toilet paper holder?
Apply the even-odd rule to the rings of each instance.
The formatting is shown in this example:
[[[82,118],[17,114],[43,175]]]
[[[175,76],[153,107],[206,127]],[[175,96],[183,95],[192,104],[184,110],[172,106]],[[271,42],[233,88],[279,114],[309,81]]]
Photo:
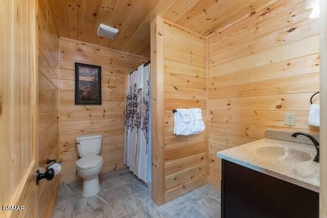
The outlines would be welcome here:
[[[58,94],[59,58],[58,33],[49,1],[38,1],[38,164],[46,170],[46,159],[59,161]],[[59,176],[45,179],[38,186],[38,215],[51,216],[59,187]]]

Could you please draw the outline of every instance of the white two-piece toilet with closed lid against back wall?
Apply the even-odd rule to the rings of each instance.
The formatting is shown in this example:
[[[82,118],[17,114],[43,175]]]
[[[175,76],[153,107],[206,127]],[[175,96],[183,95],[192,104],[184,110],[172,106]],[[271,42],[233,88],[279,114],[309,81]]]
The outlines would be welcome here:
[[[101,151],[101,134],[79,135],[76,137],[78,155],[76,161],[77,173],[83,178],[83,197],[97,195],[100,191],[99,174],[102,169],[103,159]]]

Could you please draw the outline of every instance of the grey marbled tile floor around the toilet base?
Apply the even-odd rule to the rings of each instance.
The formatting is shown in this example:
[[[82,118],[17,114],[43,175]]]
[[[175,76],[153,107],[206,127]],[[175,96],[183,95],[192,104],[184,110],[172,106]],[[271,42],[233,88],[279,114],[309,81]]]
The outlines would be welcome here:
[[[82,198],[82,182],[62,185],[53,217],[220,217],[220,192],[205,185],[160,207],[128,169],[100,175],[101,191]]]

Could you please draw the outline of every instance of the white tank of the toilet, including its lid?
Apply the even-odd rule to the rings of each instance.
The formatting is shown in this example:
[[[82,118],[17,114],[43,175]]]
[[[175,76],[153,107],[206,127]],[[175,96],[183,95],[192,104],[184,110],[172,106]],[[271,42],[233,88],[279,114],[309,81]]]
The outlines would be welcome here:
[[[79,135],[76,137],[77,151],[80,157],[97,155],[101,151],[101,134]]]

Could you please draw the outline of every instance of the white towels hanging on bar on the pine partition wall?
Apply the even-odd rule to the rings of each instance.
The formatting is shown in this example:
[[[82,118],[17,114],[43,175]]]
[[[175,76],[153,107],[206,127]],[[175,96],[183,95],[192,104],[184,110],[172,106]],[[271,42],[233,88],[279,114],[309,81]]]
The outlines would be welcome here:
[[[174,114],[174,134],[198,134],[205,129],[200,108],[177,109]]]

